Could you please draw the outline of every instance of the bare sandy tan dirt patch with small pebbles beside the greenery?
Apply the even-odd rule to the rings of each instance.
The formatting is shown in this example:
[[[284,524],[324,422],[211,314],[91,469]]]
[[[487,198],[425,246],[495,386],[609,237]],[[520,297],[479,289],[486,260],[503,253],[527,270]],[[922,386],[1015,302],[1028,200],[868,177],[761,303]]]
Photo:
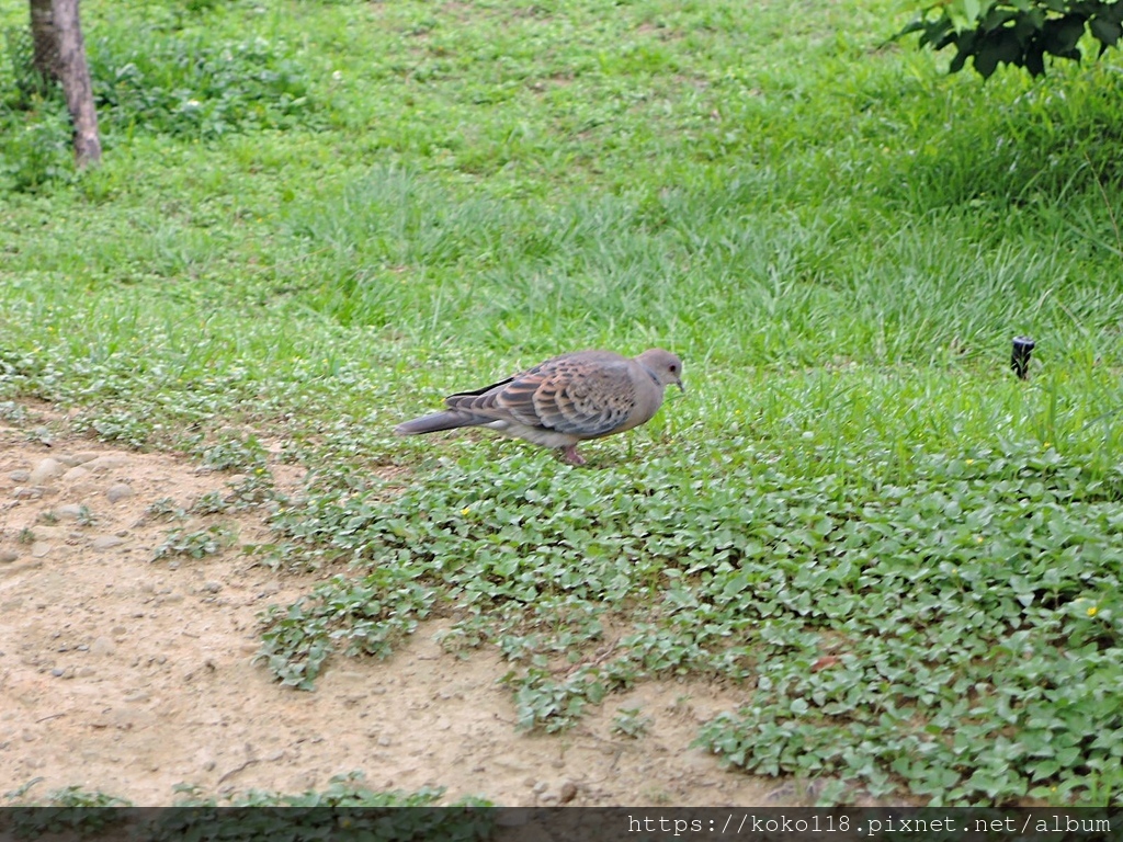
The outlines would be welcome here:
[[[504,806],[803,800],[791,781],[725,771],[690,748],[701,722],[738,705],[733,690],[647,683],[565,734],[528,735],[496,685],[499,655],[445,653],[439,623],[386,661],[334,660],[313,693],[281,687],[250,662],[257,616],[314,577],[240,551],[267,539],[259,513],[220,515],[238,536],[220,555],[153,560],[172,524],[146,516],[149,504],[190,506],[231,475],[57,431],[52,440],[35,432],[46,412],[0,421],[0,795],[42,778],[31,799],[79,785],[158,806],[181,797],[177,784],[298,793],[362,770],[374,788],[442,786],[446,799]],[[299,486],[298,469],[274,467]],[[613,733],[613,716],[633,707],[650,717],[647,732]]]

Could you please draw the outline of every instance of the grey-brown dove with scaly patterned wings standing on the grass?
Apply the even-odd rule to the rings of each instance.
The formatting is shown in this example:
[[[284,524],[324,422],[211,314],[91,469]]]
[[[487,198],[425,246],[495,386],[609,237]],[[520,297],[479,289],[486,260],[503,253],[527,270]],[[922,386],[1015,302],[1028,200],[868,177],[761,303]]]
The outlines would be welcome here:
[[[647,423],[670,384],[686,392],[682,360],[661,348],[636,357],[608,350],[574,351],[490,386],[449,395],[445,399],[448,409],[398,424],[394,432],[418,436],[485,427],[560,449],[565,461],[584,465],[578,442]]]

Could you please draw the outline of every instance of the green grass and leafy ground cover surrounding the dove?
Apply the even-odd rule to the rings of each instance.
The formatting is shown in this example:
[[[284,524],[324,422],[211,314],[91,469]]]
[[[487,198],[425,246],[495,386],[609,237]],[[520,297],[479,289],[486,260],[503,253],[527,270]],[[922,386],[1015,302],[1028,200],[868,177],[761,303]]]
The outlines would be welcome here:
[[[701,744],[827,802],[1120,804],[1117,56],[951,79],[887,0],[83,12],[99,171],[0,70],[0,401],[312,466],[282,681],[442,615],[528,727],[721,677]],[[688,393],[591,469],[390,432],[652,345]]]

